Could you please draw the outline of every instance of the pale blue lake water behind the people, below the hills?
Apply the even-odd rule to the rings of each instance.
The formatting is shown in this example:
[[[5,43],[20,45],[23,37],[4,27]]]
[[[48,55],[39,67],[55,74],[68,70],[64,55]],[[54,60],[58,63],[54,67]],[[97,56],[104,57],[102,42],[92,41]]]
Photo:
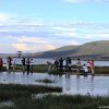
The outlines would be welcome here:
[[[15,59],[15,64],[22,64],[22,58],[16,58]],[[33,63],[34,64],[47,64],[47,61],[50,61],[50,62],[55,62],[55,60],[52,59],[37,59],[37,58],[34,58],[33,60]],[[3,59],[3,62],[7,63],[7,59]],[[65,64],[65,62],[63,62]],[[82,64],[84,63],[87,63],[86,61],[82,61]],[[72,64],[76,64],[76,61],[75,60],[72,60]],[[109,66],[109,61],[95,61],[95,65],[96,66]]]

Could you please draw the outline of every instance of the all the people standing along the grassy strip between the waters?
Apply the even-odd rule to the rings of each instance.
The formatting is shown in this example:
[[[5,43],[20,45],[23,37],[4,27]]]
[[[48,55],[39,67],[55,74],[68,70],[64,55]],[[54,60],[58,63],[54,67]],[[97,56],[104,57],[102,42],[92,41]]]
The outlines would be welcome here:
[[[8,57],[7,59],[7,70],[11,71],[11,70],[15,70],[15,58],[11,58]],[[33,73],[33,58],[22,58],[21,62],[22,62],[22,70],[23,73],[25,71],[27,71],[27,73],[32,72]],[[56,72],[68,72],[71,73],[73,72],[73,66],[76,66],[76,73],[81,73],[82,70],[84,71],[83,74],[87,75],[88,72],[92,72],[92,74],[95,74],[95,62],[94,60],[88,60],[85,63],[82,63],[80,58],[76,60],[75,64],[72,64],[72,59],[70,57],[68,58],[60,58],[60,59],[56,59],[55,62],[49,62],[47,61],[47,65],[48,65],[48,72],[52,71],[52,68],[55,68]],[[2,58],[0,58],[0,71],[2,71],[2,66],[3,66],[3,60]]]

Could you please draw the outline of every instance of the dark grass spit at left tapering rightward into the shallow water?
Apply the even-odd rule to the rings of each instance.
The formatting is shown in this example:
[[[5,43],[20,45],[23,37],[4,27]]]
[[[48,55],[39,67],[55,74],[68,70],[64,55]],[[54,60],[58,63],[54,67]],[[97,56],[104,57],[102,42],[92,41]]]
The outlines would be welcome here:
[[[61,92],[60,87],[47,87],[35,85],[3,85],[0,84],[0,101],[31,97],[32,94]]]

